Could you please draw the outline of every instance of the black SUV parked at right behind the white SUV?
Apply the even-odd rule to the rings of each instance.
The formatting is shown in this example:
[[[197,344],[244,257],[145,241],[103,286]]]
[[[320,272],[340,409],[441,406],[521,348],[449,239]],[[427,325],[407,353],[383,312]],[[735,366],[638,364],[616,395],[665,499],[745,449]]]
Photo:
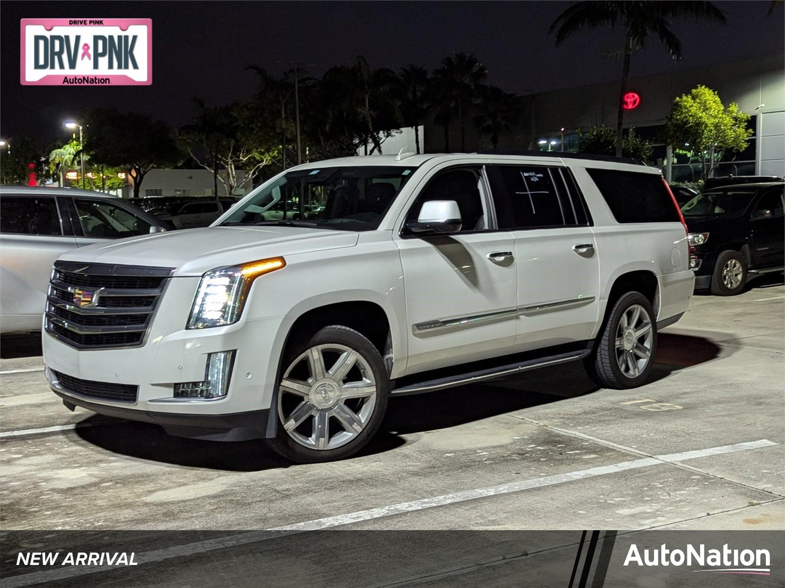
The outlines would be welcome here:
[[[681,207],[696,289],[733,296],[749,274],[783,270],[783,182],[718,187]]]

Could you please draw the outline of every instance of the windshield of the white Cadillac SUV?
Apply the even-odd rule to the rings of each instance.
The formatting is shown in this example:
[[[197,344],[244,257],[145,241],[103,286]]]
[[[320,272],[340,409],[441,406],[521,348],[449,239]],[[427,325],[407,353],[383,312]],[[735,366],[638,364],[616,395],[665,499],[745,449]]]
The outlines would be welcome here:
[[[287,224],[373,230],[414,169],[369,165],[289,172],[235,205],[220,226]]]

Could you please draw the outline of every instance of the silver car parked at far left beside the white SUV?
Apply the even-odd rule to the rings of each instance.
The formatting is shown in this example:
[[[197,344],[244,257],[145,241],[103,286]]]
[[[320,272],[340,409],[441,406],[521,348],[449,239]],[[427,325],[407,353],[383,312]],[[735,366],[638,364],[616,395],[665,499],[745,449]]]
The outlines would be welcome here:
[[[162,230],[155,217],[109,194],[0,187],[0,332],[41,329],[52,264],[62,253]]]

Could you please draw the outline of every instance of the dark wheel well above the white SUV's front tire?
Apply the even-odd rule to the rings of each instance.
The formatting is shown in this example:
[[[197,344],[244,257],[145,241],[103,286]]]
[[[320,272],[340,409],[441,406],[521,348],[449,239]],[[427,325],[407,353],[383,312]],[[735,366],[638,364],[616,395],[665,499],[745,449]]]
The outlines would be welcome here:
[[[389,321],[384,309],[376,303],[358,300],[313,308],[301,314],[289,332],[287,345],[303,337],[312,336],[320,328],[344,325],[362,333],[385,355],[389,339]]]

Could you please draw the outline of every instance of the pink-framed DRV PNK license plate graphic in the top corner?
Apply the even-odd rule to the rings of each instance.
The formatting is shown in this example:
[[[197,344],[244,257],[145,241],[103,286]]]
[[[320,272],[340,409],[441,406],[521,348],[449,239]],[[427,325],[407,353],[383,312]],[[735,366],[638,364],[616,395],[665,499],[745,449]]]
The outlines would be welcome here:
[[[148,18],[21,20],[22,85],[152,84]]]

